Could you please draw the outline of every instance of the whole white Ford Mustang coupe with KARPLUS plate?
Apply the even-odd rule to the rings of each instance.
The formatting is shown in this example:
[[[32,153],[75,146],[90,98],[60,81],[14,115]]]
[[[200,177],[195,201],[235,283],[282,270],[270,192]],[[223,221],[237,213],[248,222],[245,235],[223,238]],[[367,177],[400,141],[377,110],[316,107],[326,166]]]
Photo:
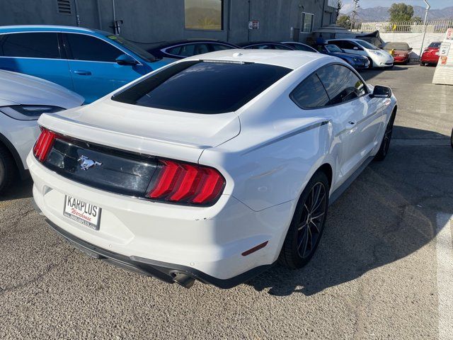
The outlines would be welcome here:
[[[319,53],[225,50],[44,114],[38,210],[96,259],[186,288],[301,268],[329,201],[384,159],[396,99]]]

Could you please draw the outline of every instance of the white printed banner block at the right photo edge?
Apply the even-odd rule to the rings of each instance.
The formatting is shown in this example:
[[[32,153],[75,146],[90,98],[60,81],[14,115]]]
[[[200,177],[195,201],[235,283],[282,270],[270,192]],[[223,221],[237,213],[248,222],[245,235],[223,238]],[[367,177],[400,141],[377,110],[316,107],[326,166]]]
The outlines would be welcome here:
[[[439,62],[432,77],[433,84],[453,85],[453,28],[448,28],[439,49]]]

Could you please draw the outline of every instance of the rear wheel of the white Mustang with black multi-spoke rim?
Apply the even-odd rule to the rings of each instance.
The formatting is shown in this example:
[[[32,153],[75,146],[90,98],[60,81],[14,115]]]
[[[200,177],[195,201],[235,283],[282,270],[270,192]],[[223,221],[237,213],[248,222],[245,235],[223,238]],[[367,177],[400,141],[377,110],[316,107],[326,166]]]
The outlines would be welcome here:
[[[323,234],[328,210],[329,185],[318,171],[307,183],[297,203],[278,258],[288,268],[302,268],[314,255]]]

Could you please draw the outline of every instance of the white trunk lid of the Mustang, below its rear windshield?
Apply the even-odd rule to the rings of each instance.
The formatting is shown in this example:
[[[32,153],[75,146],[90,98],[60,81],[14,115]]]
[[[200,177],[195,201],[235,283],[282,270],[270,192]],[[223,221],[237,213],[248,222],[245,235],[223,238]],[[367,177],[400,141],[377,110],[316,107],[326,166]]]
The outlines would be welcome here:
[[[42,115],[40,125],[62,135],[139,154],[197,162],[204,149],[239,135],[236,113],[167,111],[111,101]]]

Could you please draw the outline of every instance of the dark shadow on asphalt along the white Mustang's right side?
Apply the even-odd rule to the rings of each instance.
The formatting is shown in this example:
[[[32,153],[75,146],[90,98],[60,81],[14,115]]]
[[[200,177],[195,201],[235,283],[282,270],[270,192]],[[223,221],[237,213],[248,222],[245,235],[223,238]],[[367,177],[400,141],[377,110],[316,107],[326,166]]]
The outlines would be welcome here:
[[[331,205],[307,266],[275,266],[246,284],[271,295],[313,295],[412,254],[436,236],[437,212],[453,214],[452,164],[449,146],[391,146],[384,162],[372,162]]]

